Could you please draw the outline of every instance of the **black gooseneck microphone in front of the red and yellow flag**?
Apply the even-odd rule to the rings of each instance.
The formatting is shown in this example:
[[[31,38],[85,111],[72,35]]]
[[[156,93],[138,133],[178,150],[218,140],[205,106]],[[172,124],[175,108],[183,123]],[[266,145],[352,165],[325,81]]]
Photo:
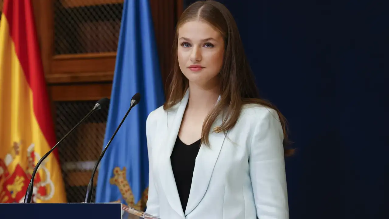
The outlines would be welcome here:
[[[42,161],[44,161],[44,159],[46,159],[47,156],[49,156],[49,154],[51,152],[53,152],[53,150],[58,147],[58,145],[60,145],[62,143],[63,140],[65,140],[65,138],[74,131],[75,128],[77,128],[82,122],[84,122],[84,120],[86,120],[86,118],[88,118],[92,113],[94,113],[96,110],[99,110],[102,108],[102,106],[105,106],[107,105],[109,102],[109,99],[107,97],[104,97],[102,99],[100,99],[99,101],[96,102],[95,106],[93,107],[93,109],[91,111],[89,111],[89,113],[84,117],[82,118],[82,120],[80,122],[77,123],[77,125],[75,125],[72,129],[70,129],[70,131],[65,134],[65,136],[63,136],[63,138],[58,141],[58,143],[56,143],[56,145],[54,145],[54,147],[51,148],[51,150],[49,150],[49,152],[47,152],[45,155],[43,155],[43,157],[37,162],[37,165],[35,165],[35,168],[32,172],[32,175],[31,175],[31,180],[30,180],[30,184],[28,185],[27,187],[27,191],[26,191],[26,194],[25,194],[25,199],[24,199],[24,203],[30,203],[31,202],[31,198],[32,198],[32,193],[33,193],[33,189],[34,189],[34,178],[35,178],[35,174],[37,173],[37,170],[39,168],[39,165],[42,163]]]

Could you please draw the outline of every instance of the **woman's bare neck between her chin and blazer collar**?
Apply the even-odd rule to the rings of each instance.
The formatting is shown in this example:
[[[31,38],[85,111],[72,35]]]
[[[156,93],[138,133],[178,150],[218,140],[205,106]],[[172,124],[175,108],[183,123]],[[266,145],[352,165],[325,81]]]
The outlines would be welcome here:
[[[197,85],[190,84],[187,108],[209,111],[215,107],[219,95],[219,87],[204,89]]]

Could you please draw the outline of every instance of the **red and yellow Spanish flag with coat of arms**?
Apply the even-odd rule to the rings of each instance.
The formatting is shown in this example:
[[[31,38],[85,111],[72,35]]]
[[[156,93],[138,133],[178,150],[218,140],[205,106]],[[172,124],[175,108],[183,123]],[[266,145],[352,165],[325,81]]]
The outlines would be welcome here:
[[[4,0],[0,21],[0,203],[24,201],[35,164],[55,143],[31,1]],[[35,175],[32,202],[66,202],[56,150]]]

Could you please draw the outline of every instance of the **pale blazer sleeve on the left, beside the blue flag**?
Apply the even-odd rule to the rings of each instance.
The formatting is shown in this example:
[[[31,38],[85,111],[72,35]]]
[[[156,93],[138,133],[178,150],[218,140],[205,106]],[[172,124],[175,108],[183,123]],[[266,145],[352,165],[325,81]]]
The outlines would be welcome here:
[[[153,170],[152,170],[152,144],[151,144],[151,135],[153,132],[152,128],[152,119],[151,112],[146,120],[146,138],[147,138],[147,152],[149,157],[149,193],[146,203],[146,213],[151,214],[155,217],[159,217],[159,201],[158,201],[158,192],[156,190],[154,180],[153,180]]]

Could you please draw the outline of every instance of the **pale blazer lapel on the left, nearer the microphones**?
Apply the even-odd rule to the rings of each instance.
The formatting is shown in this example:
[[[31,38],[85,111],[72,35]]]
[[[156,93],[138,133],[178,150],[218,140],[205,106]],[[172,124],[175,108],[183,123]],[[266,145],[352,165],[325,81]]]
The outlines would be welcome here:
[[[161,141],[162,145],[160,154],[158,168],[159,168],[159,178],[161,180],[161,185],[165,196],[170,204],[170,206],[177,212],[177,214],[184,217],[184,212],[182,210],[180,196],[177,191],[177,186],[175,184],[175,179],[172,170],[172,163],[170,162],[170,155],[172,155],[173,147],[175,140],[177,139],[178,132],[180,130],[182,117],[185,112],[186,104],[189,99],[189,89],[186,91],[186,94],[182,98],[182,101],[176,110],[168,111],[167,113],[167,127],[165,133],[163,133],[164,140]]]

